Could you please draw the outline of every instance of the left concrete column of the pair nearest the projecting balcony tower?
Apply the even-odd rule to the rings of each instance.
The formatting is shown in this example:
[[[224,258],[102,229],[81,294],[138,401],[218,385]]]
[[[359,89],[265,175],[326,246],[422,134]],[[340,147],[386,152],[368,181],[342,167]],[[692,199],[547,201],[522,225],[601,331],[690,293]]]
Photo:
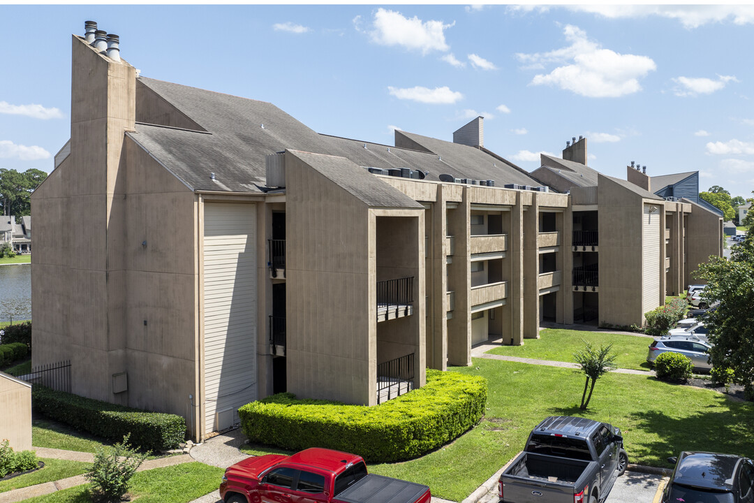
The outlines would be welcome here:
[[[448,367],[448,278],[446,273],[447,256],[445,241],[448,235],[447,207],[443,186],[437,186],[437,201],[432,207],[430,235],[431,256],[427,262],[430,269],[427,275],[427,291],[430,293],[430,324],[427,327],[427,366],[431,369],[446,370]],[[431,279],[430,279],[431,278]]]

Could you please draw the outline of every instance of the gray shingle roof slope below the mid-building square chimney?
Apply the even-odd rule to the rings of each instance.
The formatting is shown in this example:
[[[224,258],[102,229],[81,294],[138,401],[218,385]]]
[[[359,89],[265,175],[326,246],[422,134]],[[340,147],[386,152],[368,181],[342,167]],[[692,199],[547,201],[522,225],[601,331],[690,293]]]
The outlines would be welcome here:
[[[480,149],[437,140],[437,138],[421,136],[416,133],[407,133],[406,131],[396,131],[396,133],[406,136],[440,157],[442,164],[435,164],[432,169],[428,169],[433,176],[432,179],[442,173],[448,173],[456,178],[492,179],[495,180],[497,186],[502,186],[505,183],[528,186],[541,185],[540,182],[520,168],[514,167],[501,158],[495,158]]]

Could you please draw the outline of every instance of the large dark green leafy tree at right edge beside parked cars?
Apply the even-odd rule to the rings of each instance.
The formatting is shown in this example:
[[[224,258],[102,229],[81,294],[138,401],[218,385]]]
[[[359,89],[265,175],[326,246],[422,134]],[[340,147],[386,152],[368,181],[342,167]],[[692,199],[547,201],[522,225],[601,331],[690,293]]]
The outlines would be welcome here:
[[[732,369],[746,396],[754,397],[754,233],[732,248],[730,259],[710,257],[696,275],[707,281],[703,300],[720,302],[705,321],[713,367]]]

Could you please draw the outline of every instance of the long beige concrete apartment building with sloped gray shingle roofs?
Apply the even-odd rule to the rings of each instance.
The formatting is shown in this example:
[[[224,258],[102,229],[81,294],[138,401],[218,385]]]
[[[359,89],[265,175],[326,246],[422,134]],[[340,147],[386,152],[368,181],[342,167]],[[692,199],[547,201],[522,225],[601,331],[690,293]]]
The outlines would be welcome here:
[[[564,189],[486,149],[483,118],[453,142],[326,136],[138,76],[95,29],[72,38],[71,138],[32,195],[33,363],[71,360],[75,394],[195,439],[279,391],[382,403],[543,320],[641,324],[720,253],[719,217],[590,170],[586,140],[543,157],[595,182]]]

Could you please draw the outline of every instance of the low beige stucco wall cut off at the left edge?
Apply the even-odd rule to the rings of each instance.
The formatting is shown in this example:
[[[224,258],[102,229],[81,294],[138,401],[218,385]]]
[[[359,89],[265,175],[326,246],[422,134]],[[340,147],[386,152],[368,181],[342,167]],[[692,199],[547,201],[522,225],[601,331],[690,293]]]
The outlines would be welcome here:
[[[14,451],[32,448],[32,385],[0,372],[0,440]]]

